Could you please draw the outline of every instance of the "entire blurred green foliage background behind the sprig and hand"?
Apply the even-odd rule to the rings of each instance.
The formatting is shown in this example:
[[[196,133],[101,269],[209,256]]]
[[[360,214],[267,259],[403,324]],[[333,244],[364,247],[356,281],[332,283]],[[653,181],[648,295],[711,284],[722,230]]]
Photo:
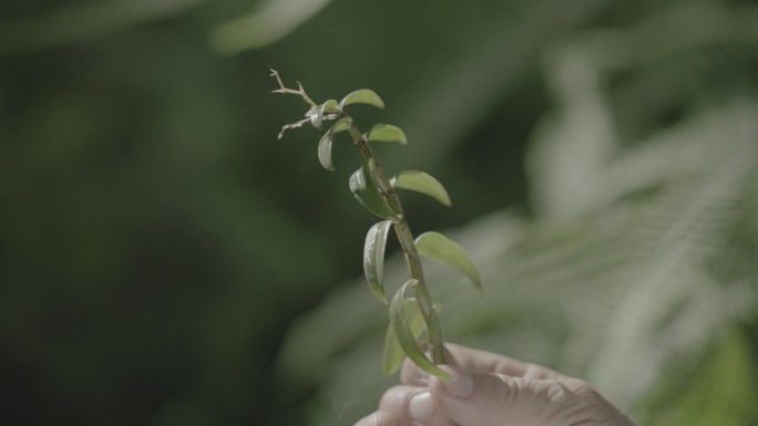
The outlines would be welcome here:
[[[378,92],[382,163],[448,188],[404,204],[485,279],[429,264],[450,340],[646,425],[758,424],[747,0],[3,1],[0,423],[349,425],[393,382],[359,157],[277,141],[305,104],[269,67]]]

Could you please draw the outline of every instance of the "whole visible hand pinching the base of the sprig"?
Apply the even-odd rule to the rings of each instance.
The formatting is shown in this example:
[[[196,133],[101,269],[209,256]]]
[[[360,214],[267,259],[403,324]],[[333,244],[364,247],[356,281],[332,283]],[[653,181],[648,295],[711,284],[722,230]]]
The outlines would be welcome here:
[[[635,426],[587,383],[540,365],[445,344],[454,381],[406,360],[401,384],[356,426]]]

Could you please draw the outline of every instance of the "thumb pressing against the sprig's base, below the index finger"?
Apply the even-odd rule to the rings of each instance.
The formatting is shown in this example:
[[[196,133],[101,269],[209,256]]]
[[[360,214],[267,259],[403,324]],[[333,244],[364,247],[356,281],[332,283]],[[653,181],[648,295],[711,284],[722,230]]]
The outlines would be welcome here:
[[[633,425],[585,382],[530,380],[441,366],[454,381],[429,377],[437,408],[460,426]]]

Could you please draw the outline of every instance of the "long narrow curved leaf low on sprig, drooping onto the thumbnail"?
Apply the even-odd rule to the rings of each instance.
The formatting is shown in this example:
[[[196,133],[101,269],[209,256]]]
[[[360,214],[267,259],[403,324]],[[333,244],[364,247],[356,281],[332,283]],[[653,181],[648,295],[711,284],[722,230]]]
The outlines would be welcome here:
[[[404,293],[409,287],[413,287],[418,280],[408,280],[392,297],[390,302],[390,326],[397,339],[398,344],[408,357],[424,372],[442,377],[444,380],[453,380],[453,377],[444,371],[438,368],[419,347],[413,336],[413,331],[410,325],[410,318],[406,310]]]

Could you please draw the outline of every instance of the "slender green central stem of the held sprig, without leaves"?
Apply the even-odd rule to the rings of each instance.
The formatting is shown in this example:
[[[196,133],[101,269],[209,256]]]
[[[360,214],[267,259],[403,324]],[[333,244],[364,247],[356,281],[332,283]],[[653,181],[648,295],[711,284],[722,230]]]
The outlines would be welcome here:
[[[348,117],[350,122],[352,122],[352,118],[347,114],[341,113],[340,115]],[[383,169],[377,163],[373,156],[373,150],[371,149],[371,145],[369,145],[358,127],[351,125],[348,129],[348,133],[350,134],[352,142],[356,144],[360,150],[360,154],[363,156],[366,164],[368,165],[369,174],[373,185],[379,189],[379,193],[387,201],[387,205],[390,206],[392,211],[397,215],[397,217],[392,219],[392,226],[395,228],[396,235],[398,236],[398,241],[400,241],[403,257],[406,258],[408,273],[410,274],[411,279],[418,281],[412,289],[427,329],[427,337],[429,340],[428,351],[431,354],[431,359],[434,364],[444,364],[445,356],[442,344],[442,328],[440,325],[440,320],[434,312],[431,293],[429,292],[423,278],[421,258],[416,249],[413,232],[411,232],[410,226],[406,220],[400,197],[395,188],[392,188],[387,174],[385,174]]]

